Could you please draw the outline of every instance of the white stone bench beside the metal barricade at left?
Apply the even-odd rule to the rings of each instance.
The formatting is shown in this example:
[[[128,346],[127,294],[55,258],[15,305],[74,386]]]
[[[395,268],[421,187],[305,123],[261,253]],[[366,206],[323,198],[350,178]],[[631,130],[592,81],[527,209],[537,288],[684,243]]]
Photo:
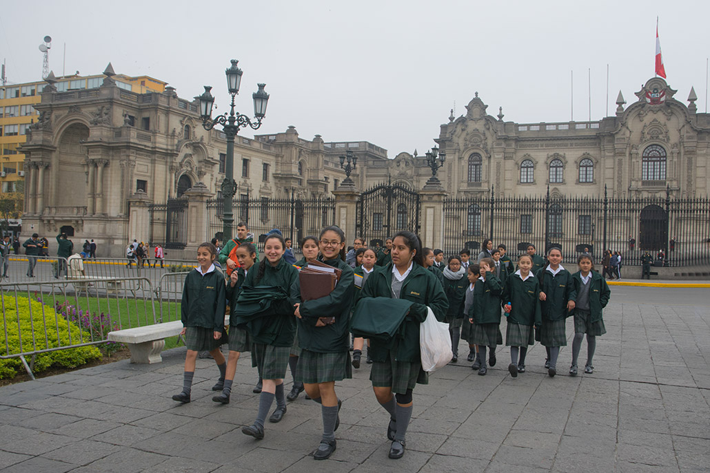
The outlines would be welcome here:
[[[224,325],[229,325],[229,315],[224,317]],[[163,322],[144,327],[124,328],[109,332],[107,340],[124,343],[131,350],[131,363],[160,363],[160,353],[165,347],[165,338],[180,335],[182,322]]]

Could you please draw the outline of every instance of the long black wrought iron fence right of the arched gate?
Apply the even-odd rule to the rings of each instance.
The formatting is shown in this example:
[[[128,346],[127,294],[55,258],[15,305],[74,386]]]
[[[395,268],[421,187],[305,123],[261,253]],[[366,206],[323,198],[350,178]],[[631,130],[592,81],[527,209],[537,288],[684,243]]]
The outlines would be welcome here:
[[[542,253],[559,247],[566,260],[588,250],[621,252],[624,265],[640,265],[643,252],[670,266],[710,262],[710,199],[493,196],[444,199],[447,255],[479,252],[486,238],[503,243],[511,257],[532,243]],[[475,255],[474,255],[475,257]]]

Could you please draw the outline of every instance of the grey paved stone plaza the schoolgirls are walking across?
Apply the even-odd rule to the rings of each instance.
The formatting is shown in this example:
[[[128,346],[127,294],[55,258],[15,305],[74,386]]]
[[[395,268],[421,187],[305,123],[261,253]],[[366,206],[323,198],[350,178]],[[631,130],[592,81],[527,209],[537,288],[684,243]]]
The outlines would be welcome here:
[[[414,391],[401,460],[389,460],[388,417],[369,365],[339,382],[337,451],[315,462],[320,406],[300,396],[266,438],[241,433],[256,415],[256,370],[245,355],[231,404],[211,401],[217,368],[198,360],[192,403],[185,348],[158,365],[117,362],[0,388],[3,472],[692,472],[710,465],[710,289],[613,286],[595,372],[576,378],[570,345],[555,378],[545,350],[511,379],[508,350],[486,377],[464,355]],[[505,332],[503,332],[505,333]],[[586,342],[580,364],[586,359]],[[583,370],[580,370],[580,372]],[[290,374],[287,375],[287,389]]]

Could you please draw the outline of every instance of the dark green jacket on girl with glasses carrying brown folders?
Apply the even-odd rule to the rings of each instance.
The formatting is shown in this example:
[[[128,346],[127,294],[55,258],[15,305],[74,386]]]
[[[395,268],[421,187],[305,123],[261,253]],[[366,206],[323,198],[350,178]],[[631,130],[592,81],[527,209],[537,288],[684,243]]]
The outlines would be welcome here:
[[[301,301],[301,286],[297,278],[291,289],[292,299],[301,302],[301,318],[297,319],[298,346],[318,353],[344,352],[348,349],[350,312],[355,295],[354,272],[340,258],[323,262],[342,271],[338,284],[330,294]],[[319,317],[335,317],[335,323],[316,327]]]

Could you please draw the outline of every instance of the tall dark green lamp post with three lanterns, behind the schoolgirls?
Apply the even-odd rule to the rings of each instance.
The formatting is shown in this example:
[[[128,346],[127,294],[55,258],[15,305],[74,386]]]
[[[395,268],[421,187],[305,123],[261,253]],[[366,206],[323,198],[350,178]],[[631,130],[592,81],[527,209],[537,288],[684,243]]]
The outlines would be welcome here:
[[[212,106],[214,105],[214,97],[209,93],[212,90],[210,86],[204,86],[204,93],[195,97],[200,101],[200,116],[202,118],[202,126],[205,130],[212,130],[215,125],[222,125],[224,135],[226,135],[226,162],[224,165],[224,180],[222,181],[222,198],[223,201],[223,216],[222,216],[222,240],[231,239],[231,226],[234,223],[234,212],[232,211],[232,201],[236,194],[236,181],[234,180],[234,137],[239,133],[239,129],[244,126],[249,126],[253,130],[257,130],[261,126],[261,120],[266,116],[266,104],[268,104],[268,94],[264,91],[266,84],[258,84],[258,91],[251,94],[254,101],[254,117],[256,121],[252,122],[248,116],[234,111],[234,98],[239,94],[239,85],[241,84],[242,71],[237,67],[237,60],[231,60],[231,67],[226,69],[226,84],[227,90],[231,95],[231,110],[229,115],[225,112],[212,118]]]

